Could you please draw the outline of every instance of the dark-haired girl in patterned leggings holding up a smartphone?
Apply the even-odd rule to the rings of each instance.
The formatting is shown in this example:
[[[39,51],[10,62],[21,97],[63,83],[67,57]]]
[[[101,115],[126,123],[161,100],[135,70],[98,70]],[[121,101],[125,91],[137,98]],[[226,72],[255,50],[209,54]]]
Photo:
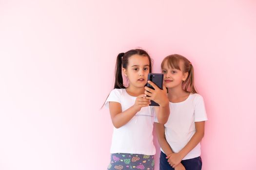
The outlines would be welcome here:
[[[164,124],[170,110],[166,88],[148,82],[151,69],[151,58],[144,50],[118,54],[115,86],[105,102],[114,125],[108,170],[154,170],[154,117]],[[129,81],[127,87],[122,73]],[[147,82],[155,90],[146,87]],[[151,100],[159,106],[149,106]]]

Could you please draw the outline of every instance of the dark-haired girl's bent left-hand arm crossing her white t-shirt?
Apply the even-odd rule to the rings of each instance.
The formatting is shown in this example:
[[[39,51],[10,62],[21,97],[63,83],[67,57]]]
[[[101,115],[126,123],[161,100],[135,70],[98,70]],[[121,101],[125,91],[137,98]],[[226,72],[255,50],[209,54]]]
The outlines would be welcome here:
[[[139,95],[133,106],[122,112],[119,102],[109,102],[109,112],[115,128],[119,128],[130,121],[141,107],[148,106],[150,101],[145,99],[145,94]]]

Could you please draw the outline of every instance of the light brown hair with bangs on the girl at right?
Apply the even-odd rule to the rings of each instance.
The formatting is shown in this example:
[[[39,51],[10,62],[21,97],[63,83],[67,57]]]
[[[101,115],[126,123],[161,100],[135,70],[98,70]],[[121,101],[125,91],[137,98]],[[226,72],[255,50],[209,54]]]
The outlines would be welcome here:
[[[165,62],[168,62],[168,65],[171,68],[175,68],[178,70],[182,70],[179,67],[180,61],[183,61],[183,72],[188,72],[188,77],[187,79],[182,82],[182,87],[186,92],[191,92],[191,93],[197,93],[197,89],[195,86],[195,80],[194,80],[194,68],[191,62],[184,56],[179,55],[179,54],[172,54],[168,55],[165,57],[161,63],[161,68],[163,68],[163,65]]]

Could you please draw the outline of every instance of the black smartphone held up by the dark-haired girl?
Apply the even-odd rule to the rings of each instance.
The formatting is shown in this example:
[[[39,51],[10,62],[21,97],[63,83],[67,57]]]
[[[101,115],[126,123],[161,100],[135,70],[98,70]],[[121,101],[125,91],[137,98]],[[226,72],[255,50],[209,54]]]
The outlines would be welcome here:
[[[160,73],[149,73],[148,74],[148,80],[153,82],[160,89],[163,89],[163,74],[160,74]],[[152,85],[150,85],[149,83],[147,83],[146,86],[149,87],[149,88],[154,89],[154,87]],[[154,102],[154,101],[151,101],[150,106],[159,106],[159,104]]]

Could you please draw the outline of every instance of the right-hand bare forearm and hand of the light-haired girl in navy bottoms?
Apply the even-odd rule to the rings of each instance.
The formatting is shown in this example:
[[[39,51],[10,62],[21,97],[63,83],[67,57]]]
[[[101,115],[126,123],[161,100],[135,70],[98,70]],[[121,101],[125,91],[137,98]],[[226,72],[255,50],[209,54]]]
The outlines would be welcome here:
[[[168,162],[173,168],[176,167],[180,161],[202,140],[204,136],[204,122],[205,121],[195,122],[196,133],[192,136],[186,146],[178,153],[171,153],[167,156]]]

